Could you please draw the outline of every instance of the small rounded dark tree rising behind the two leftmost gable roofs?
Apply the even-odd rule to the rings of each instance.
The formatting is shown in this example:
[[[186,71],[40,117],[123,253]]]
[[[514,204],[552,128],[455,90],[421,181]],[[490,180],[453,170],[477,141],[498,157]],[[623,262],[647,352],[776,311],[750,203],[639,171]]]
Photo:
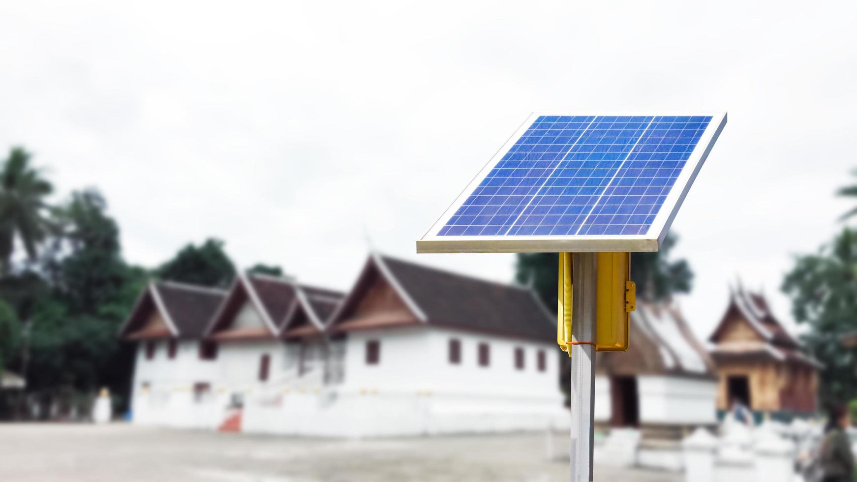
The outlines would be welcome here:
[[[235,279],[235,266],[224,242],[207,239],[199,247],[188,244],[156,270],[161,279],[203,286],[226,287]]]

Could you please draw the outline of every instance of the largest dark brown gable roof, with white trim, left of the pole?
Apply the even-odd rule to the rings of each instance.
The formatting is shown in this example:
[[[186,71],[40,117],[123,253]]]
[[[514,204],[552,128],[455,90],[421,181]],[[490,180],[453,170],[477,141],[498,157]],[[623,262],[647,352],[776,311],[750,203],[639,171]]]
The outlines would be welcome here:
[[[348,318],[365,284],[381,276],[423,324],[488,332],[538,341],[554,341],[551,315],[531,289],[495,283],[410,261],[372,253],[345,301],[331,318],[339,324]]]

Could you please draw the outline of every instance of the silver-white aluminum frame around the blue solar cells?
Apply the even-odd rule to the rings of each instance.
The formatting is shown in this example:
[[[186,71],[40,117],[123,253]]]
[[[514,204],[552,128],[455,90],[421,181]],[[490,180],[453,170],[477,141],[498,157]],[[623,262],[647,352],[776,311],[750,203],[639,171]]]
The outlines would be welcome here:
[[[687,159],[681,174],[675,180],[667,199],[658,211],[655,221],[645,235],[579,235],[579,236],[439,236],[446,222],[458,211],[458,208],[476,190],[479,183],[494,169],[506,152],[530,128],[539,116],[711,116],[711,122],[699,138],[690,158]],[[602,253],[602,252],[651,252],[657,251],[666,237],[669,226],[684,201],[687,191],[717,137],[726,125],[726,112],[607,112],[593,114],[592,112],[534,112],[520,128],[506,140],[488,164],[479,171],[464,188],[458,198],[446,209],[442,216],[434,222],[423,238],[417,240],[417,253]]]

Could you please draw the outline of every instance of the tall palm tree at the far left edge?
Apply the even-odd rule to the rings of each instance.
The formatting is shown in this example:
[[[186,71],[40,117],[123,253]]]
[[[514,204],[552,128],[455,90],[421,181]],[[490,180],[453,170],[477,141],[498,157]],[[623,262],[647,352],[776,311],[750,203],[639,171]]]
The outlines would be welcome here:
[[[30,164],[30,153],[12,148],[0,169],[0,274],[9,273],[15,236],[27,258],[36,257],[49,227],[45,197],[52,191],[51,182]]]

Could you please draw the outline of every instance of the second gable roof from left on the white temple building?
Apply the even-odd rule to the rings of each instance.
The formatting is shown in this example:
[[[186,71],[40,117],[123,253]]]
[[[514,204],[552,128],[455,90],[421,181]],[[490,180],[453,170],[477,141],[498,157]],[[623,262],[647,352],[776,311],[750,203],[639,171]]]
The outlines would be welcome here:
[[[236,335],[277,336],[277,321],[285,316],[295,299],[294,283],[290,278],[239,273],[217,312],[211,318],[205,336],[213,336],[226,329],[244,302],[255,307],[265,325],[265,332],[236,333]],[[241,337],[241,336],[237,336]]]

